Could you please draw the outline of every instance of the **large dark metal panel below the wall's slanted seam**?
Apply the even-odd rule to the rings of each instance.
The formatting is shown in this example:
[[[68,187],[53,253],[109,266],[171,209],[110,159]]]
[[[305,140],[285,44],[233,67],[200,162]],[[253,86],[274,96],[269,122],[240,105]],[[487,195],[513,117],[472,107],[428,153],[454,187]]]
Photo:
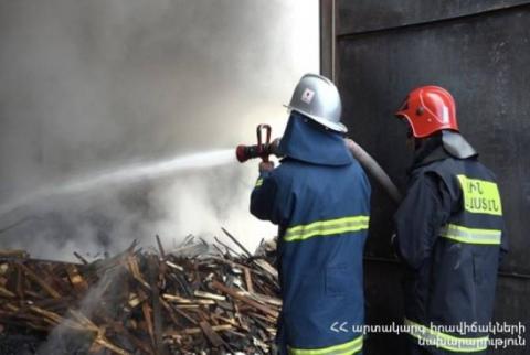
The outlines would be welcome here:
[[[454,94],[462,131],[497,173],[512,251],[507,270],[530,273],[530,6],[473,19],[384,31],[338,43],[338,83],[351,132],[401,186],[410,152],[393,110],[416,86]],[[523,49],[527,49],[526,51]],[[368,252],[389,256],[391,208],[375,192]]]

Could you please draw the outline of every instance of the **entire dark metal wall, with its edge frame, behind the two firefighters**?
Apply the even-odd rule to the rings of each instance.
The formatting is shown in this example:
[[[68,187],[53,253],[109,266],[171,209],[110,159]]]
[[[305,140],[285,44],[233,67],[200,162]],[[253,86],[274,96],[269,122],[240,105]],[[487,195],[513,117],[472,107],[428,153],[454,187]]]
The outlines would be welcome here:
[[[321,0],[321,71],[339,86],[351,137],[401,187],[411,154],[392,112],[421,85],[453,93],[463,133],[501,187],[511,252],[496,320],[530,326],[530,1]],[[373,186],[368,321],[399,322],[401,268],[389,246],[395,207]],[[372,336],[367,354],[403,354],[401,341]],[[530,354],[530,344],[495,354]]]

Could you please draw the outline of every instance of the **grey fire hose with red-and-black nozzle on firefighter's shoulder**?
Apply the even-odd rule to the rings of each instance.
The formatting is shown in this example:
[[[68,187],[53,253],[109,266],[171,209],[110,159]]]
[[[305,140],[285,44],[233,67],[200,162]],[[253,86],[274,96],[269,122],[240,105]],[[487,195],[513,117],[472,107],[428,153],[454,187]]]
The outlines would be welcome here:
[[[240,144],[235,150],[235,155],[237,160],[243,163],[250,159],[262,158],[263,161],[268,161],[268,155],[276,155],[282,158],[282,152],[279,151],[279,140],[276,138],[271,141],[271,126],[268,125],[258,125],[256,129],[257,135],[257,144],[245,146]],[[263,139],[263,132],[265,132],[265,139]],[[353,158],[356,158],[359,163],[364,168],[364,170],[383,187],[383,190],[389,194],[392,201],[399,204],[402,200],[402,195],[395,184],[392,182],[386,172],[381,168],[381,165],[373,159],[361,146],[356,143],[352,139],[344,139],[344,143],[350,150]]]

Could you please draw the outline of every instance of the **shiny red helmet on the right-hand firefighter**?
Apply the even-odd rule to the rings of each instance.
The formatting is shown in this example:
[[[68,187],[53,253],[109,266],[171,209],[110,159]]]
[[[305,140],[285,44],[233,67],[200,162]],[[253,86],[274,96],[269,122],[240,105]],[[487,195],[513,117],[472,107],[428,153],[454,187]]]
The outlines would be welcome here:
[[[422,86],[412,90],[395,116],[406,118],[416,138],[428,137],[443,129],[458,131],[455,100],[439,86]]]

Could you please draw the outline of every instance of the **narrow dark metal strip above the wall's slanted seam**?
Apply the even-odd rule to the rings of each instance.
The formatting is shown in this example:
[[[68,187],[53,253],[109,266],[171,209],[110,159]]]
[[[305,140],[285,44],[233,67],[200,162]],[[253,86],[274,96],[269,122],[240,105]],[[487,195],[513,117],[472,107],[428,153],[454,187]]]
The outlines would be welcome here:
[[[337,34],[426,23],[529,3],[528,0],[337,0]]]

